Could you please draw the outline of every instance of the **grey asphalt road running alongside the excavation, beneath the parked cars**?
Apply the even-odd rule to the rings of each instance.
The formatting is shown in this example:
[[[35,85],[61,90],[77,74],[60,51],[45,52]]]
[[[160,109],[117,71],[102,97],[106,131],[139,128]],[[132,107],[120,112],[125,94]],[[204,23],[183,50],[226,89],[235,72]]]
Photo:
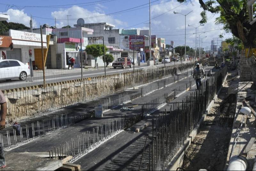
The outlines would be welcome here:
[[[189,61],[190,62],[190,61]],[[186,62],[183,62],[186,63]],[[180,64],[180,62],[175,62],[175,64]],[[174,62],[171,64],[166,64],[166,66],[174,65]],[[156,67],[162,67],[164,64],[159,64]],[[135,66],[135,70],[140,70],[147,67],[146,65],[143,66]],[[125,73],[133,70],[133,68],[107,68],[106,74],[117,74],[117,73]],[[46,70],[45,71],[45,80],[46,83],[55,83],[55,82],[63,82],[63,81],[69,81],[69,80],[75,80],[81,78],[81,69],[76,68],[75,70]],[[96,77],[100,75],[105,75],[104,68],[95,69],[86,71],[84,69],[83,71],[83,78],[89,78],[89,77]],[[21,88],[21,87],[27,87],[27,86],[36,86],[44,84],[43,74],[41,71],[34,72],[33,81],[31,81],[31,77],[29,76],[26,81],[20,81],[19,79],[13,79],[11,81],[2,80],[0,81],[0,89],[6,90],[6,89],[14,89],[14,88]]]

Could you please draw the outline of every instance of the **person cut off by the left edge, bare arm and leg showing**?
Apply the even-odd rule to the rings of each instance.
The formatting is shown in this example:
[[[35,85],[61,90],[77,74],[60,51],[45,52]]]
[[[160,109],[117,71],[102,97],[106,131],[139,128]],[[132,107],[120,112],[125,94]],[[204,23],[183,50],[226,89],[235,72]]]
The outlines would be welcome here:
[[[5,117],[7,114],[7,103],[4,98],[4,94],[2,93],[1,90],[0,90],[0,106],[1,106],[0,129],[3,130],[5,128]],[[0,169],[5,168],[5,167],[6,167],[6,163],[5,163],[5,158],[4,158],[4,147],[3,147],[3,143],[0,143]]]

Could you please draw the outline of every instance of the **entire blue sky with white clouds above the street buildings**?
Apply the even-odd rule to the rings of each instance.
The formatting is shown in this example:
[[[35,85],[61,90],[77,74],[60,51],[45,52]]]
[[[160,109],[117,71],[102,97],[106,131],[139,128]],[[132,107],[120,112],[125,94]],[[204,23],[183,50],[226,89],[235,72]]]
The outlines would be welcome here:
[[[98,1],[97,3],[91,3]],[[100,1],[100,2],[99,2]],[[198,0],[191,0],[186,4],[180,4],[176,0],[151,0],[153,2],[151,5],[151,16],[152,18],[157,17],[156,19],[152,19],[152,35],[157,35],[157,37],[164,37],[166,39],[166,43],[170,44],[170,41],[173,40],[176,46],[183,45],[185,43],[185,18],[182,15],[174,14],[175,12],[188,13],[193,10],[187,16],[187,25],[193,25],[195,27],[199,26],[198,23],[200,21],[200,12],[202,9],[200,8],[200,4]],[[134,11],[124,12],[117,15],[110,15],[104,17],[97,17],[99,15],[109,14],[113,12],[118,12],[122,10],[126,10],[129,8],[133,8],[139,5],[147,4],[148,0],[44,0],[44,1],[35,1],[35,0],[1,0],[0,11],[2,13],[7,13],[10,15],[12,22],[20,22],[25,25],[29,25],[30,15],[34,20],[34,27],[39,27],[39,25],[43,25],[45,23],[50,26],[55,25],[54,18],[62,19],[57,20],[57,27],[62,27],[67,25],[67,16],[69,16],[69,25],[73,26],[76,24],[77,18],[88,18],[85,19],[85,23],[93,23],[93,22],[108,22],[116,25],[116,28],[140,28],[140,29],[148,29],[148,22],[146,22],[148,18],[148,5],[141,6]],[[87,3],[87,4],[82,4]],[[10,5],[3,5],[10,4]],[[67,5],[67,8],[50,8],[50,7],[24,7],[24,6],[54,6],[54,5]],[[64,6],[62,6],[64,7]],[[170,11],[170,12],[168,12]],[[163,15],[162,15],[163,14]],[[41,18],[47,19],[41,19]],[[203,40],[203,47],[210,48],[210,42],[212,38],[218,37],[223,33],[220,28],[221,25],[215,25],[214,21],[217,15],[213,15],[208,13],[208,22],[203,27],[198,28],[198,32],[206,32],[201,35],[201,38],[207,36]],[[63,20],[64,19],[64,20]],[[74,20],[72,20],[74,19]],[[141,24],[139,24],[141,23]],[[137,25],[139,24],[139,25]],[[131,27],[132,26],[132,27]],[[196,36],[193,35],[195,33],[195,29],[187,26],[187,45],[195,48],[195,39]],[[224,39],[231,36],[231,34],[223,34]]]

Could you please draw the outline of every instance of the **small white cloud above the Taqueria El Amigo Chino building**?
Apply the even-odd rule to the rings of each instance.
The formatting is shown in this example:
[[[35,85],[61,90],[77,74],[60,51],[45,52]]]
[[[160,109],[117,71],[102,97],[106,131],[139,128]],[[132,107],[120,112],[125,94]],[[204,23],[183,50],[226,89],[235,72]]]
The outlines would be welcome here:
[[[24,10],[9,9],[5,14],[10,15],[10,22],[22,23],[27,27],[30,27],[30,16],[24,13]],[[33,19],[33,27],[36,26],[36,21]]]

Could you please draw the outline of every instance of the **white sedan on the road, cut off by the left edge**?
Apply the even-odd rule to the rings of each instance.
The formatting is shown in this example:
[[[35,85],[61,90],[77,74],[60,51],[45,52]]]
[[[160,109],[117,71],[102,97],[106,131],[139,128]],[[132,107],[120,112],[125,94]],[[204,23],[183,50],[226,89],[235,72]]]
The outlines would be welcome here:
[[[21,81],[30,76],[30,67],[18,60],[0,60],[0,80],[11,80],[19,78]]]

